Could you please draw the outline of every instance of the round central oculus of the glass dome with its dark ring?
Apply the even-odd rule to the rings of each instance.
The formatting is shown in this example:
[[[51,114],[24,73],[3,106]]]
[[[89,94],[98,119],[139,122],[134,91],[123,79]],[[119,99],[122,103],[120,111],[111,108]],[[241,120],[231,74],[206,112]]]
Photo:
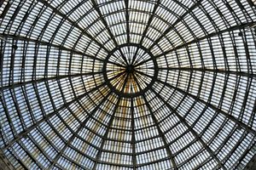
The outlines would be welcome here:
[[[158,73],[154,55],[138,44],[114,48],[104,60],[103,75],[108,88],[121,97],[137,97],[152,88]]]

